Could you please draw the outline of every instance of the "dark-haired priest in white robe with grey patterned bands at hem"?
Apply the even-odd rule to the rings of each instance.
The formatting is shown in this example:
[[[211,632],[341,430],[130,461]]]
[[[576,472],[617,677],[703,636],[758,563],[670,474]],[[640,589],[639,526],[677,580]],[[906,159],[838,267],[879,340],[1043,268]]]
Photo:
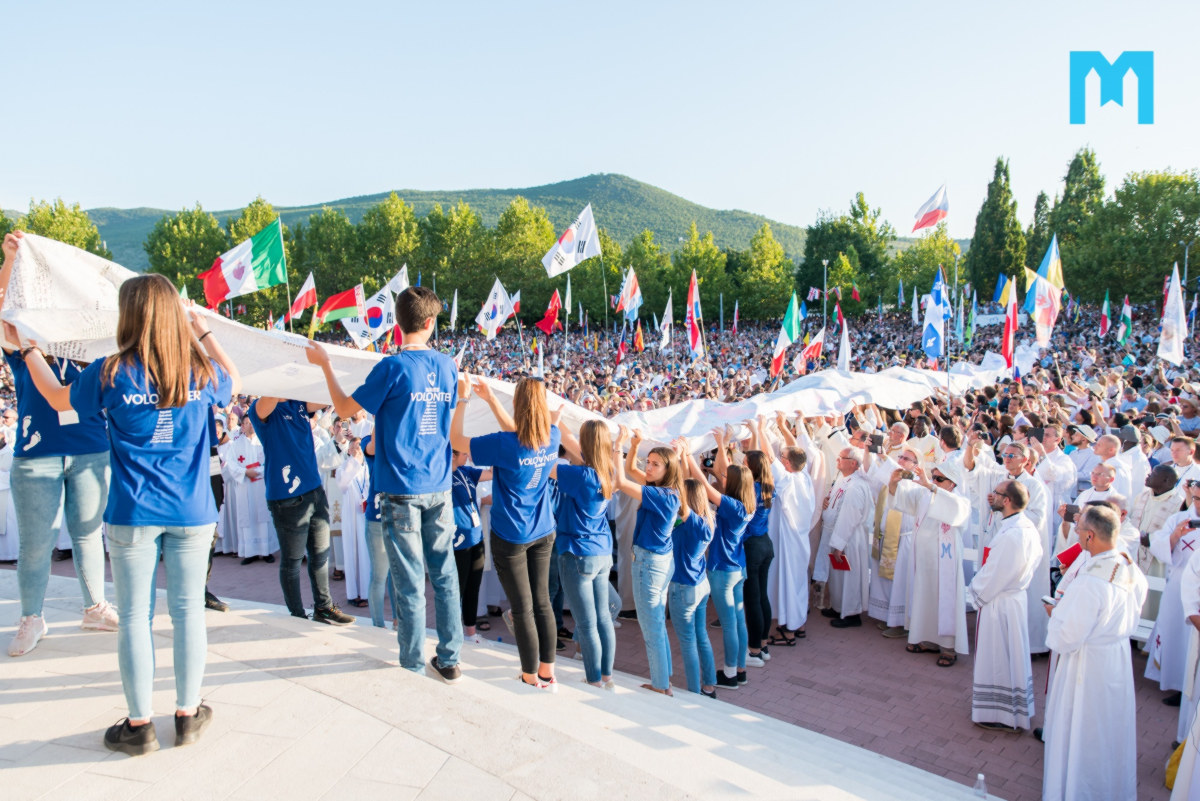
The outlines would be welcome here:
[[[1033,717],[1026,592],[1043,564],[1045,538],[1025,517],[1028,498],[1025,484],[1013,480],[989,493],[1001,522],[988,560],[967,588],[979,610],[971,719],[985,729],[1027,729]],[[1038,612],[1045,616],[1040,604]]]

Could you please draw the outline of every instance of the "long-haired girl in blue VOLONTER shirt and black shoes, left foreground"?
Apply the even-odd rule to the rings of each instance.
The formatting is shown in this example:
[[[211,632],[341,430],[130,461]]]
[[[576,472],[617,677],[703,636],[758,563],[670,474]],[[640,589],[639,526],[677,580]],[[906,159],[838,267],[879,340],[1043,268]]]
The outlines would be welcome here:
[[[209,410],[238,392],[238,369],[208,320],[184,311],[160,275],[128,278],[118,295],[115,356],[92,362],[70,387],[40,359],[22,353],[38,391],[59,411],[108,415],[113,481],[104,522],[121,626],[118,657],[130,716],[109,727],[104,746],[137,755],[156,751],[150,631],[160,554],[175,639],[175,745],[194,742],[212,719],[200,704],[208,636],[204,580],[217,510],[209,487]],[[206,353],[205,353],[206,351]]]

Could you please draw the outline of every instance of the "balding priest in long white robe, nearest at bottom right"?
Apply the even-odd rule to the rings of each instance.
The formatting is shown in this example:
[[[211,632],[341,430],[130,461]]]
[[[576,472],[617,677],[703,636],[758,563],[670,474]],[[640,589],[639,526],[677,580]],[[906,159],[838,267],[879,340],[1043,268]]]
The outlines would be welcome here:
[[[1080,512],[1075,530],[1091,558],[1050,610],[1046,643],[1057,664],[1043,728],[1045,801],[1138,797],[1129,637],[1146,577],[1120,546],[1120,528],[1110,508]]]

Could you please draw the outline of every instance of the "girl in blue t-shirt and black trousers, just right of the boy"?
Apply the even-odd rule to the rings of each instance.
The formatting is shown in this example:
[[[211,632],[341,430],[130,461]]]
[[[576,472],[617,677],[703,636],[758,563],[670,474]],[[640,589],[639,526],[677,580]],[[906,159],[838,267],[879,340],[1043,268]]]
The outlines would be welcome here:
[[[463,421],[474,390],[492,410],[500,430],[466,436]],[[458,405],[450,421],[450,445],[470,454],[473,464],[492,468],[491,544],[496,577],[512,606],[512,632],[521,656],[521,680],[557,689],[554,649],[558,644],[550,603],[550,558],[554,547],[554,512],[547,482],[558,460],[558,427],[546,405],[546,385],[526,378],[512,393],[512,415],[482,379],[472,386],[458,379]]]

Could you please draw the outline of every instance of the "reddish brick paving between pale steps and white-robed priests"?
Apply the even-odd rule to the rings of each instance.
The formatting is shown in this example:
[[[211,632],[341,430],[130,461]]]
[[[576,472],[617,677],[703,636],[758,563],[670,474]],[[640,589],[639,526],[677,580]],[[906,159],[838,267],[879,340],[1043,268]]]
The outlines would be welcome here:
[[[232,556],[214,562],[211,589],[236,606],[236,598],[282,603],[278,565],[241,566]],[[54,573],[72,576],[70,561],[55,562]],[[307,578],[301,586],[308,600]],[[334,583],[335,601],[359,616],[367,609],[344,603],[341,583]],[[430,590],[428,597],[432,597]],[[432,604],[431,604],[432,608]],[[715,613],[709,604],[709,615]],[[364,622],[368,624],[370,616]],[[511,642],[504,624],[492,619],[487,638]],[[432,625],[432,619],[430,620]],[[568,619],[568,627],[570,627]],[[974,625],[973,615],[968,625]],[[1001,799],[1034,801],[1042,789],[1040,742],[1028,734],[995,734],[971,723],[971,657],[952,668],[938,668],[932,655],[910,655],[904,640],[880,637],[872,622],[862,628],[834,630],[818,615],[809,620],[809,637],[796,648],[773,649],[774,658],[761,669],[750,668],[750,683],[736,692],[721,691],[722,700],[793,723],[811,731],[862,746],[875,753],[971,785],[977,773]],[[720,662],[720,630],[712,628]],[[672,636],[672,645],[674,646]],[[570,652],[570,651],[568,651]],[[676,654],[674,685],[683,683],[683,662]],[[1145,657],[1134,656],[1138,695],[1138,794],[1144,800],[1168,799],[1164,765],[1175,739],[1177,710],[1160,703],[1157,685],[1142,677]],[[1034,662],[1037,712],[1044,710],[1046,662]],[[624,621],[617,632],[618,670],[649,675],[637,624]]]

